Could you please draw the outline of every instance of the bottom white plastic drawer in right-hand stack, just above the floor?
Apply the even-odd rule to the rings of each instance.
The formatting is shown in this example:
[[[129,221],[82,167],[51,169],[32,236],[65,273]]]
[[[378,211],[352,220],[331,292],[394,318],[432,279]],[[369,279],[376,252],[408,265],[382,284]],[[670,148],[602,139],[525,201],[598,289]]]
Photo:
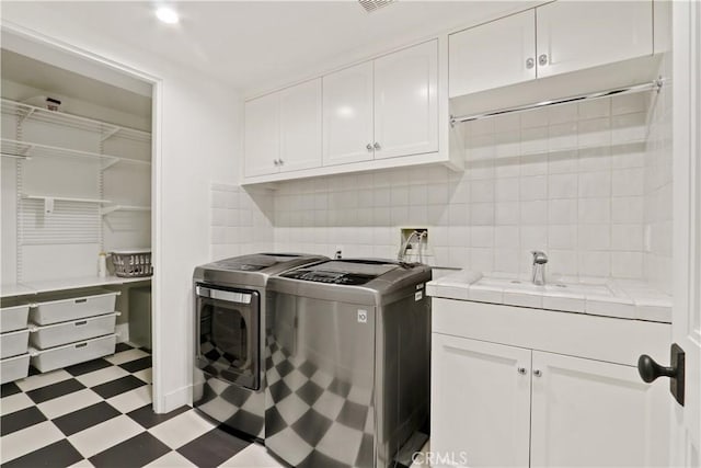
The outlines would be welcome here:
[[[30,350],[32,365],[39,372],[46,373],[61,367],[72,366],[84,361],[114,354],[117,335],[110,334],[80,343],[66,344],[45,351]]]

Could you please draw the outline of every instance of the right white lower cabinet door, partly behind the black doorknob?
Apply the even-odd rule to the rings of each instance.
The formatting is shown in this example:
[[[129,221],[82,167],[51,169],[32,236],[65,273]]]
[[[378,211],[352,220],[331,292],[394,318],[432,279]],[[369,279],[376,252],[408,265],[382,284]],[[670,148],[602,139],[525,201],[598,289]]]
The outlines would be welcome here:
[[[668,385],[632,366],[533,351],[531,466],[665,466]]]

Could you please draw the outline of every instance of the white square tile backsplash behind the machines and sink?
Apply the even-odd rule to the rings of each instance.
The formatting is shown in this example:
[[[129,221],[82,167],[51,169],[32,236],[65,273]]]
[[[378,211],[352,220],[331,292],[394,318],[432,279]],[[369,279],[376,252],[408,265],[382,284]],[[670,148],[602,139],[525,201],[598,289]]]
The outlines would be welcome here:
[[[463,124],[466,170],[417,167],[212,186],[212,256],[276,249],[397,258],[429,228],[427,261],[527,277],[654,279],[670,272],[669,95],[567,104]],[[656,99],[657,101],[654,101]],[[648,115],[650,114],[650,115]]]

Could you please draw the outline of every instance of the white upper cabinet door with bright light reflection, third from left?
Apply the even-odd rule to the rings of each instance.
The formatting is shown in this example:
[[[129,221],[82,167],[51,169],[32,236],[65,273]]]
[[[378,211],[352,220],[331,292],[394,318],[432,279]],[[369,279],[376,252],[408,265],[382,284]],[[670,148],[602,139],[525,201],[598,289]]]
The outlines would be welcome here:
[[[372,159],[372,62],[323,77],[324,165]]]

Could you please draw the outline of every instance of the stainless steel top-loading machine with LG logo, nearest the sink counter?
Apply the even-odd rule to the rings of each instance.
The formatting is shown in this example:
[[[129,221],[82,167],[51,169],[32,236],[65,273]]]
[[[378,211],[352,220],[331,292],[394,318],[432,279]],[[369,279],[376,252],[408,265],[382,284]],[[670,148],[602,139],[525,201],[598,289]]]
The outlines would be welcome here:
[[[295,467],[411,465],[428,425],[428,281],[426,265],[364,259],[269,279],[268,450]]]

